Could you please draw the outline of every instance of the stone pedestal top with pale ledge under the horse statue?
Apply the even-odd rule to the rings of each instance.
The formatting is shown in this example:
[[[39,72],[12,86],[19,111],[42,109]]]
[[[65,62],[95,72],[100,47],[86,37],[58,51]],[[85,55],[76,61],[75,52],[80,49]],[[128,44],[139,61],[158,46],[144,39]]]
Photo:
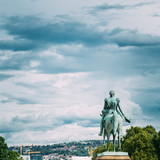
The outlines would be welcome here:
[[[103,152],[97,155],[96,160],[131,160],[127,152]]]

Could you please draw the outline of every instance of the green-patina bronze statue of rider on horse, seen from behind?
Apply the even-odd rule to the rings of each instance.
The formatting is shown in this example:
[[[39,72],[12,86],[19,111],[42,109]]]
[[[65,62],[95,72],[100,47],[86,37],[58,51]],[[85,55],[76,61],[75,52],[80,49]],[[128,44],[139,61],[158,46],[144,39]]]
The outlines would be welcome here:
[[[118,151],[121,151],[121,141],[123,138],[123,117],[130,123],[120,106],[120,99],[115,98],[115,92],[109,92],[110,97],[105,98],[102,110],[99,136],[103,135],[103,147],[105,148],[105,136],[107,136],[107,151],[109,151],[110,135],[113,135],[113,151],[115,152],[115,139],[118,132]]]

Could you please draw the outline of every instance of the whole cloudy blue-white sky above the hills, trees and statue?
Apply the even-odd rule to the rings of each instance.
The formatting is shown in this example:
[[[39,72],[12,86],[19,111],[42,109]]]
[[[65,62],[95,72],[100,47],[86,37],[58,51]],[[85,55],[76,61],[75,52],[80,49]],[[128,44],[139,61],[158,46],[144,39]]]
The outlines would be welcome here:
[[[160,1],[0,0],[0,136],[10,145],[102,139],[114,90],[123,131],[160,130]]]

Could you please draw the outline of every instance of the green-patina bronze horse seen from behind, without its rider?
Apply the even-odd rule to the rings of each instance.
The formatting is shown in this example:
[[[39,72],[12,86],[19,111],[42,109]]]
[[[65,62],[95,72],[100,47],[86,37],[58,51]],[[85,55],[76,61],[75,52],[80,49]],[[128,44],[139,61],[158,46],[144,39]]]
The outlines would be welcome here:
[[[115,152],[115,139],[118,132],[118,151],[121,151],[123,136],[123,120],[116,112],[108,114],[104,118],[103,147],[105,148],[105,136],[107,136],[107,151],[109,151],[110,135],[113,135],[113,152]]]

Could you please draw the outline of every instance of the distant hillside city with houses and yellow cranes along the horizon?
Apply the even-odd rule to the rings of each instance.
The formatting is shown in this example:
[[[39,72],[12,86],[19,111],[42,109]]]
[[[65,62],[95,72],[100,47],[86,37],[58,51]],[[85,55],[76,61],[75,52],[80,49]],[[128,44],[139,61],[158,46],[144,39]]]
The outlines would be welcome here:
[[[101,145],[101,140],[59,143],[52,145],[11,146],[23,160],[91,160],[93,151]]]

